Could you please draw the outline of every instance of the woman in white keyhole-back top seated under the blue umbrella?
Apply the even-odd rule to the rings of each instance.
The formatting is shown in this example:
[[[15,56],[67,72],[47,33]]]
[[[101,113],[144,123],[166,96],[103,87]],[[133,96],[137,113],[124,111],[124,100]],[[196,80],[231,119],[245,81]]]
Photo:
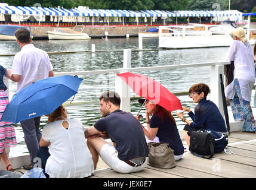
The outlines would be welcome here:
[[[84,131],[78,119],[67,119],[62,105],[49,115],[38,157],[50,178],[85,178],[94,172]]]

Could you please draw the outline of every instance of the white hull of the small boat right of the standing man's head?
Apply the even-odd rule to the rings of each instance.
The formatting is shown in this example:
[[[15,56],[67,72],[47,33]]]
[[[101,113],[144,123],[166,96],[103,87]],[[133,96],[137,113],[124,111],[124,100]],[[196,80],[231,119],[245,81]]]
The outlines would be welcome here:
[[[48,31],[49,40],[90,40],[91,37],[86,33],[82,34],[70,34],[70,33],[59,33],[54,31]]]

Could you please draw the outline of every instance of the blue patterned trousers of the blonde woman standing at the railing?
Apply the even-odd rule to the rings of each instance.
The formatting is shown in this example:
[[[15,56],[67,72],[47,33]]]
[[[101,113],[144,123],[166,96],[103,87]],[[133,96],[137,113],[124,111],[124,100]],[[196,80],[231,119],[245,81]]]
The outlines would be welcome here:
[[[242,131],[253,132],[256,129],[256,125],[250,102],[243,99],[237,78],[234,80],[234,85],[236,94],[234,99],[230,100],[234,119],[235,121],[244,121]]]

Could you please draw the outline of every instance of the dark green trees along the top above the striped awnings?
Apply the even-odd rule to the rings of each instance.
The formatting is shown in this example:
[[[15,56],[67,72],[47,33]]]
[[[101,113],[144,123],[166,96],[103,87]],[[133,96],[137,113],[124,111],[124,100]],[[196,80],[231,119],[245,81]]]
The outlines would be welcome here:
[[[75,8],[79,5],[91,9],[123,9],[123,10],[227,10],[229,0],[4,0],[8,5],[29,6],[36,3],[42,7]],[[231,0],[230,9],[251,12],[256,0]]]

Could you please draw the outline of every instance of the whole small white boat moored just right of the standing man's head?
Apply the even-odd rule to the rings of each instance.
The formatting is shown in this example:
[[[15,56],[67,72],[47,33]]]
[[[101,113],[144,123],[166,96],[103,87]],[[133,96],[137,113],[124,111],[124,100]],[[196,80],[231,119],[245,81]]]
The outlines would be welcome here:
[[[72,29],[54,29],[47,31],[49,40],[90,40],[87,33],[81,33]]]

